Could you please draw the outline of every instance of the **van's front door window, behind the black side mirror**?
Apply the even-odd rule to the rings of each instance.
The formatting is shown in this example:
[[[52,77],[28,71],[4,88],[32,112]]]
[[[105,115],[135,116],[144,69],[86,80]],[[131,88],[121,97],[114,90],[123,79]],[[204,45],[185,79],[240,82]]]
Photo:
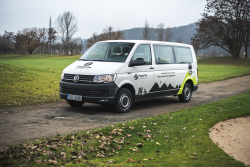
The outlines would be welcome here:
[[[132,60],[135,61],[137,58],[143,58],[146,65],[152,64],[150,45],[140,45],[134,55]]]

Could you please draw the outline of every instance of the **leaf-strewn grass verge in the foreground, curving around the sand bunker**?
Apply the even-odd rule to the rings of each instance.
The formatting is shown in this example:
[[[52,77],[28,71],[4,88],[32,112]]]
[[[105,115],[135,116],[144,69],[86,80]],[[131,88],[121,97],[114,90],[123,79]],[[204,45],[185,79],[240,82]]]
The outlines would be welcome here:
[[[245,166],[212,142],[209,128],[250,114],[250,92],[178,112],[55,136],[0,150],[0,165]]]

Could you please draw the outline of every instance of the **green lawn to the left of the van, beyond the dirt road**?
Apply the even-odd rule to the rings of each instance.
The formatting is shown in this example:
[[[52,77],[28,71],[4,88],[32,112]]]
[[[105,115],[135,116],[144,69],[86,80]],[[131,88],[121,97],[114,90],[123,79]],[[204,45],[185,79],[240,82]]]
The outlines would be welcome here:
[[[61,72],[79,57],[0,55],[0,108],[60,101]]]

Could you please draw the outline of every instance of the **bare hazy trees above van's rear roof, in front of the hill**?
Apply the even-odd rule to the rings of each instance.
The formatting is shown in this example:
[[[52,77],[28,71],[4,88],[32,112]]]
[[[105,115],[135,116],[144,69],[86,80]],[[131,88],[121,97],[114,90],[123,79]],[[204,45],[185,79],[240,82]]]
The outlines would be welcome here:
[[[159,23],[157,28],[154,29],[153,26],[149,26],[149,23],[146,20],[143,29],[143,39],[153,40],[155,33],[157,34],[158,41],[170,41],[173,36],[171,28],[165,29],[163,23]]]

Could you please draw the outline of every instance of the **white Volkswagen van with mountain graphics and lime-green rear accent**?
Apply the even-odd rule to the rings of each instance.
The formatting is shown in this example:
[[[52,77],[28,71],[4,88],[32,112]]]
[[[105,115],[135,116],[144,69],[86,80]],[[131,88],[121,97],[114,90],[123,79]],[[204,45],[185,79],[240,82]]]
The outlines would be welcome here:
[[[94,44],[63,70],[60,98],[72,107],[84,102],[111,104],[124,113],[134,101],[160,96],[174,95],[189,102],[197,83],[191,45],[110,40]]]

